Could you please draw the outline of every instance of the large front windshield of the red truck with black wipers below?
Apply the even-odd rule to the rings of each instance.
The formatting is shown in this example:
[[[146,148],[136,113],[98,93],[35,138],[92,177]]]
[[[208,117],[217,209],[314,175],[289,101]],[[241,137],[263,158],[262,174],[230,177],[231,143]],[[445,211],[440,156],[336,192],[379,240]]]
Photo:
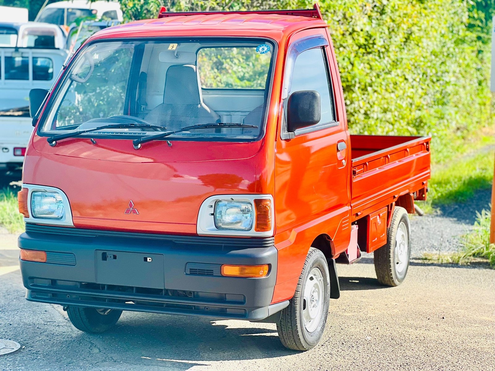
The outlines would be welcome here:
[[[68,69],[40,134],[93,129],[105,118],[113,124],[112,116],[126,115],[164,131],[245,124],[181,131],[168,139],[256,139],[264,123],[273,47],[253,39],[90,44]],[[137,139],[152,133],[156,129],[131,126],[91,136]]]

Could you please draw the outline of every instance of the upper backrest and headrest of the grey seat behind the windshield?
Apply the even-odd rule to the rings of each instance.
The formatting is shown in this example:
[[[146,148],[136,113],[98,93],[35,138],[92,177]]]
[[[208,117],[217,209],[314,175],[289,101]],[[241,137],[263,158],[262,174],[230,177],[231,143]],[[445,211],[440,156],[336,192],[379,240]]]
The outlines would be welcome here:
[[[176,64],[168,67],[163,103],[194,105],[202,103],[199,74],[195,65]]]

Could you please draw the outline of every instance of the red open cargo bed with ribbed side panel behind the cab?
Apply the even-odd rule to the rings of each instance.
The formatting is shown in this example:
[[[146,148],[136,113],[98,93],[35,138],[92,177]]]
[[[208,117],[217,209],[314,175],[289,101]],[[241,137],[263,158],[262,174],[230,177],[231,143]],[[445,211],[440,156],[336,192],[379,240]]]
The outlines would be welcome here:
[[[430,178],[430,137],[351,135],[351,220],[399,196],[423,199]]]

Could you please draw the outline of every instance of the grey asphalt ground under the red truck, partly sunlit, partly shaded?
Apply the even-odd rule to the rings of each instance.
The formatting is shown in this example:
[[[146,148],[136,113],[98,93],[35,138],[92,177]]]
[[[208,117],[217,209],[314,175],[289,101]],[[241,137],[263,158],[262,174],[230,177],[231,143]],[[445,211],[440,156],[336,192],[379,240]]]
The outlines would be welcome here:
[[[370,258],[338,266],[320,344],[285,349],[273,324],[124,312],[101,335],[60,306],[24,299],[15,236],[0,234],[0,338],[19,342],[0,370],[495,370],[495,271],[413,262],[395,288]],[[10,267],[10,268],[9,268]]]

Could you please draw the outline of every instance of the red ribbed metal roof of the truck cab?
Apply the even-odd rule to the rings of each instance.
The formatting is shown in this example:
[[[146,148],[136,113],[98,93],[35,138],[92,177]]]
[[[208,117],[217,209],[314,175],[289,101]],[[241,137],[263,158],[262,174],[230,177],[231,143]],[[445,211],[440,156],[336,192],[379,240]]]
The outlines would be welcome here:
[[[255,36],[279,41],[284,35],[298,30],[327,26],[319,17],[281,13],[283,12],[168,13],[162,18],[135,21],[99,31],[89,40],[156,36]],[[293,13],[297,14],[297,11]],[[160,16],[162,14],[160,12]]]

